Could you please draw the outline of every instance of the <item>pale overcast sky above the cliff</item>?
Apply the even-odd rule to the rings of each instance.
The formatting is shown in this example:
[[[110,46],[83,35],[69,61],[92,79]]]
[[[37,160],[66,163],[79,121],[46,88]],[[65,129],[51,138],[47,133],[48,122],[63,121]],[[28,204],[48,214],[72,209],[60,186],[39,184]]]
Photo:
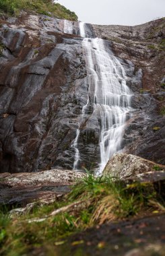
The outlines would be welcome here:
[[[137,25],[165,17],[165,0],[59,0],[81,22]]]

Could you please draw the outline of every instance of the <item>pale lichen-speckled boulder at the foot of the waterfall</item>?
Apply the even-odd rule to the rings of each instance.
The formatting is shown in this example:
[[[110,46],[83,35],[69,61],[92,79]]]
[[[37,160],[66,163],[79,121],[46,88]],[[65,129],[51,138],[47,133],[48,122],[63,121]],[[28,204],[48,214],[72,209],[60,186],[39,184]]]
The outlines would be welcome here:
[[[126,179],[137,177],[137,174],[156,170],[165,170],[165,166],[140,158],[139,156],[121,153],[114,154],[108,164],[106,164],[103,174],[109,174],[111,177],[117,177],[119,179]]]

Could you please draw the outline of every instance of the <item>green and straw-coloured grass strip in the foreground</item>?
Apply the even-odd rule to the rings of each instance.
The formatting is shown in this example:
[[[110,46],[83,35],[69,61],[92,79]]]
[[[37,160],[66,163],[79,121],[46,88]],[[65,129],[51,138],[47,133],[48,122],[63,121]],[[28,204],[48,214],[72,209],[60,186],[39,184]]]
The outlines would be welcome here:
[[[54,212],[57,209],[59,212]],[[3,210],[0,216],[0,254],[23,255],[32,249],[53,248],[52,255],[56,255],[55,245],[65,243],[70,234],[96,224],[162,210],[164,201],[152,184],[126,186],[108,177],[89,175],[77,183],[62,201],[37,206],[31,214],[10,220]],[[44,221],[36,222],[44,217]]]

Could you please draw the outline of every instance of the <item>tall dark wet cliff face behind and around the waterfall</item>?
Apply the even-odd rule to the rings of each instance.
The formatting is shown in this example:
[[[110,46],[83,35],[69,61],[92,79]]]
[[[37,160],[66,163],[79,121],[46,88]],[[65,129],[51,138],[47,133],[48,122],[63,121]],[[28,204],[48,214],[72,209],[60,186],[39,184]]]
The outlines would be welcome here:
[[[88,96],[79,23],[71,22],[72,34],[64,20],[45,15],[22,13],[1,18],[0,24],[0,172],[71,169],[73,140]],[[86,25],[89,37],[104,38],[119,56],[135,93],[135,115],[127,123],[123,148],[162,164],[163,26],[163,19],[135,28]],[[155,28],[162,32],[155,34]],[[152,41],[161,50],[150,49]],[[100,125],[91,113],[92,106],[78,141],[81,166],[88,169],[96,168],[100,158]]]

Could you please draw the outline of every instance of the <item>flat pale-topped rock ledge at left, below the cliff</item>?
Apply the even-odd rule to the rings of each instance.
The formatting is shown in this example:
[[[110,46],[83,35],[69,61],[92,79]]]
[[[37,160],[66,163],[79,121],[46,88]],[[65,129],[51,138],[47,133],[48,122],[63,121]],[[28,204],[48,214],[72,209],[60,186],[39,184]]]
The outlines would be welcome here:
[[[21,206],[34,201],[52,203],[85,176],[85,173],[73,170],[0,174],[0,203]]]

